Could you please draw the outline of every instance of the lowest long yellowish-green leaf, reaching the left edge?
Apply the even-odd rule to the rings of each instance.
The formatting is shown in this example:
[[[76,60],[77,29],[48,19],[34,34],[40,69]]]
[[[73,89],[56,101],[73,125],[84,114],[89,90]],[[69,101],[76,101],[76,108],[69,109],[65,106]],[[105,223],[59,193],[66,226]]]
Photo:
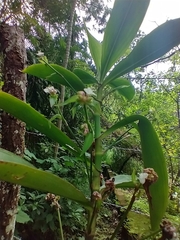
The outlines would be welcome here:
[[[91,208],[90,201],[68,181],[46,171],[29,166],[20,157],[0,149],[0,180],[74,200]]]

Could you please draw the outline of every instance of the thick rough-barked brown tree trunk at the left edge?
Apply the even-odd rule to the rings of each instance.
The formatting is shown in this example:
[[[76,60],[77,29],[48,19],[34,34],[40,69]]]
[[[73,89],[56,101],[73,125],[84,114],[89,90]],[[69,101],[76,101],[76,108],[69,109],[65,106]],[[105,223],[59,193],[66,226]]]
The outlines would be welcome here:
[[[25,101],[26,51],[24,34],[17,26],[0,25],[0,50],[3,53],[3,91]],[[24,113],[25,114],[25,113]],[[2,114],[2,148],[19,156],[24,153],[25,124],[9,114]],[[0,181],[0,239],[12,240],[20,186]]]

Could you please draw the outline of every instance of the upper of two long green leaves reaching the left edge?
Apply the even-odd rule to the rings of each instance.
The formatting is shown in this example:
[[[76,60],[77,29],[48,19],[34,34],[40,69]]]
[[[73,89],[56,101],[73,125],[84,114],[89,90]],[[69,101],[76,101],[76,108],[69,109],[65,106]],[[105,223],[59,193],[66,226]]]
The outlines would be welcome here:
[[[61,146],[66,147],[74,154],[78,155],[78,153],[80,153],[77,145],[66,136],[66,134],[59,130],[52,122],[37,112],[29,104],[8,93],[0,91],[0,108],[22,120],[28,126],[44,133],[47,137],[58,142]]]

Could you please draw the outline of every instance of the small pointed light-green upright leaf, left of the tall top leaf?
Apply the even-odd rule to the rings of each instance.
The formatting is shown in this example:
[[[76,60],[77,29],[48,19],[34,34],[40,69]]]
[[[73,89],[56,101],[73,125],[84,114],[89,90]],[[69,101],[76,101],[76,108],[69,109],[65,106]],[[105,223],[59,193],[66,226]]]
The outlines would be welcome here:
[[[97,71],[100,73],[102,44],[95,37],[93,37],[87,29],[86,29],[86,32],[88,36],[89,49],[91,52],[91,56],[94,60]]]

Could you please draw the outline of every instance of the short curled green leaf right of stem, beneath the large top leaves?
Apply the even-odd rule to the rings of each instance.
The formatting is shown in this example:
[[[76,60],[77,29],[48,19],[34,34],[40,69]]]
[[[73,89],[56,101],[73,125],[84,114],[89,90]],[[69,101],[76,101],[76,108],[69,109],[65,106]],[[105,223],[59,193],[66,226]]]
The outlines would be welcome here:
[[[132,100],[135,95],[135,88],[132,83],[125,78],[117,78],[109,84],[114,90],[118,91],[120,95],[125,97],[128,101]]]

